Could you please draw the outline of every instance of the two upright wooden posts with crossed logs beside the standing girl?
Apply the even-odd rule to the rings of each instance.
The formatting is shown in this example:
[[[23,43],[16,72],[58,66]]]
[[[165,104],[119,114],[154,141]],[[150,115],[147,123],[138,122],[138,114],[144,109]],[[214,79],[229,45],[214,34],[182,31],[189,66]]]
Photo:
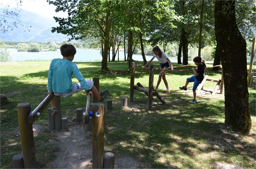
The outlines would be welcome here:
[[[152,109],[152,100],[153,96],[156,96],[162,104],[167,104],[162,96],[154,90],[153,84],[154,84],[154,65],[150,65],[149,67],[149,83],[148,83],[148,89],[144,88],[140,83],[137,83],[137,86],[134,86],[134,76],[135,76],[135,63],[131,63],[131,80],[130,80],[130,102],[133,102],[133,96],[134,96],[134,90],[137,90],[139,92],[143,92],[148,96],[148,110]]]

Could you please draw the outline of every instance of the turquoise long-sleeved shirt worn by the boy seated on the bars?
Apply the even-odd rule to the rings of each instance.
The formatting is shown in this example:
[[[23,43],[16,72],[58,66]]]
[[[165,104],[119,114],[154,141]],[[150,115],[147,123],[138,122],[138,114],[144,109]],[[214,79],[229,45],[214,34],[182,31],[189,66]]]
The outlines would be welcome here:
[[[72,75],[78,79],[84,90],[89,90],[83,75],[75,63],[68,59],[53,59],[48,72],[48,91],[58,93],[72,92]]]

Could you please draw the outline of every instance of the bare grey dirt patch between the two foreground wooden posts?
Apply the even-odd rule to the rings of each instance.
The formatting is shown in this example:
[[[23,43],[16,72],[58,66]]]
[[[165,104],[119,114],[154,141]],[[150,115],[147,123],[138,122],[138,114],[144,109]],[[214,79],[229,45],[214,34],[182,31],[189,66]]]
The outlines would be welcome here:
[[[82,124],[69,126],[67,130],[56,133],[60,150],[56,158],[48,164],[50,168],[91,168],[92,146],[88,139],[90,133]]]

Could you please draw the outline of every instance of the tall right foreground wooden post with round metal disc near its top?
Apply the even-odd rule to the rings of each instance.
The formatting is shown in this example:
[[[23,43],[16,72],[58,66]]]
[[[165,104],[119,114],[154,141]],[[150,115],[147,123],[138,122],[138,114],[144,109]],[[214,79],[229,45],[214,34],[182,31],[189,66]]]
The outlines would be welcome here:
[[[92,168],[103,168],[104,156],[104,104],[92,104]]]

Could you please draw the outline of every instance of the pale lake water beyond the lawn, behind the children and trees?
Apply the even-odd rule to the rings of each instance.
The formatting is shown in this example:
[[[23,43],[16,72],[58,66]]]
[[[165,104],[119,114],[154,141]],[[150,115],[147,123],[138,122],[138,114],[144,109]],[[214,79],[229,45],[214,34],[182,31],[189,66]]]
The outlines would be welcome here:
[[[18,52],[15,48],[7,49],[10,56],[12,57],[11,61],[27,61],[27,60],[52,60],[56,58],[62,58],[60,54],[60,49],[57,51],[44,51],[44,52]],[[126,53],[127,57],[127,53]],[[147,61],[149,61],[153,55],[146,56]],[[110,59],[112,59],[112,51],[110,51]],[[123,51],[119,51],[119,60],[124,60],[125,55]],[[176,57],[169,57],[172,62],[177,62]],[[117,56],[116,59],[117,61]],[[133,55],[133,60],[143,61],[142,55]],[[156,60],[156,59],[155,59]],[[77,49],[74,60],[75,62],[86,62],[86,61],[102,61],[102,56],[100,50],[88,50],[88,49]]]

